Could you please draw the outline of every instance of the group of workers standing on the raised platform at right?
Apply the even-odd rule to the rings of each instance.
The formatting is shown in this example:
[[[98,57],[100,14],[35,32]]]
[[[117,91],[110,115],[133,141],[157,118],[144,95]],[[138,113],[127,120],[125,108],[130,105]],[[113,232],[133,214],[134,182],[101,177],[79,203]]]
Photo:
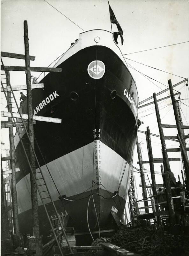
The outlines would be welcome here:
[[[177,200],[175,200],[175,204],[177,206],[177,208],[180,208],[180,206],[184,203],[184,199],[183,197],[185,196],[186,198],[189,199],[189,193],[187,191],[189,191],[189,183],[187,182],[187,180],[185,180],[185,185],[182,185],[182,183],[180,181],[176,182],[174,173],[171,172],[170,169],[167,170],[168,174],[169,174],[169,178],[170,178],[170,185],[171,185],[171,191],[172,191],[172,195],[173,196],[182,196],[181,198],[177,198]],[[186,190],[186,191],[183,191]],[[160,206],[161,211],[164,211],[164,208],[166,208],[166,193],[165,193],[165,186],[162,190],[162,188],[159,188],[157,191],[157,202]],[[173,200],[174,203],[174,200]]]

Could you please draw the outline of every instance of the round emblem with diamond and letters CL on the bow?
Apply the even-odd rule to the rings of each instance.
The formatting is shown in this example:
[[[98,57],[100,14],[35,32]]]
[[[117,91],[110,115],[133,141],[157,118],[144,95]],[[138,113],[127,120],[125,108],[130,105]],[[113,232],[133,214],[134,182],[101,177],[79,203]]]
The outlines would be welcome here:
[[[104,76],[105,65],[100,60],[94,60],[89,64],[87,71],[89,76],[91,76],[92,78],[100,79]]]

